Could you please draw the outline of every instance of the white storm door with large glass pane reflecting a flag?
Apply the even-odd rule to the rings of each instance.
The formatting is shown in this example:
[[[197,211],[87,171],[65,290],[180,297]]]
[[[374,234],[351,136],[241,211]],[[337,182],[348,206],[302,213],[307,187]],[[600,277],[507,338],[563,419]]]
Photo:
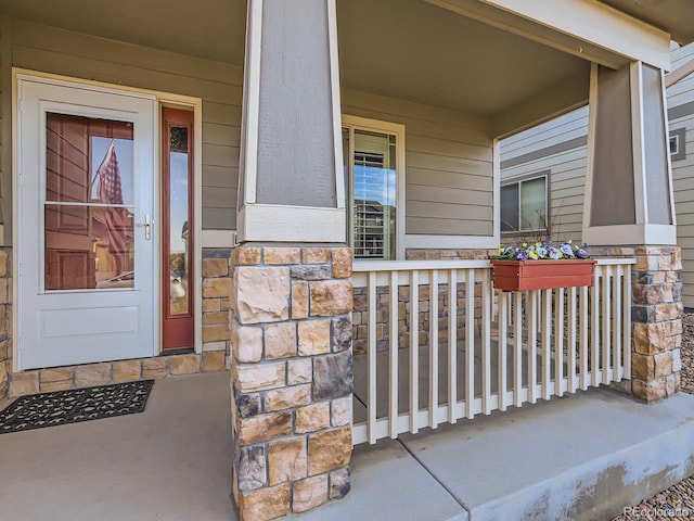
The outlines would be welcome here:
[[[18,369],[156,354],[155,99],[17,81]]]

